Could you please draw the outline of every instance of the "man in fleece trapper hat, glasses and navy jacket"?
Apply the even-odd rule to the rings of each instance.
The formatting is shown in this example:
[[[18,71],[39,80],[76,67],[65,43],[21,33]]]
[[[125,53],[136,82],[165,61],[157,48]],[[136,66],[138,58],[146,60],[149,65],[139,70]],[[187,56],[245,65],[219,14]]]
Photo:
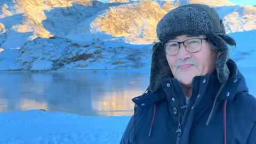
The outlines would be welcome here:
[[[148,92],[133,98],[134,115],[120,143],[255,144],[256,100],[229,59],[215,10],[188,4],[157,25]]]

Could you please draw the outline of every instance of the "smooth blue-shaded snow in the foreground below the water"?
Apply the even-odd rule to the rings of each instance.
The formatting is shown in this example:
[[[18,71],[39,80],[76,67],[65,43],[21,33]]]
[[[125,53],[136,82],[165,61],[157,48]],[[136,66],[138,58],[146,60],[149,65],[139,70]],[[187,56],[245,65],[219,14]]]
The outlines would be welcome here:
[[[129,119],[42,110],[1,113],[0,143],[119,143]]]

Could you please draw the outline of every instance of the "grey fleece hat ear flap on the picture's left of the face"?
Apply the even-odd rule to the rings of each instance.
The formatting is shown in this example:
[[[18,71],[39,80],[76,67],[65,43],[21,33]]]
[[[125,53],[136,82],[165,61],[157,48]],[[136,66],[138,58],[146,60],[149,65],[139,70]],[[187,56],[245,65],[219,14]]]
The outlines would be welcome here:
[[[166,59],[164,45],[157,42],[153,45],[149,90],[156,92],[161,87],[162,79],[171,77],[173,75]]]

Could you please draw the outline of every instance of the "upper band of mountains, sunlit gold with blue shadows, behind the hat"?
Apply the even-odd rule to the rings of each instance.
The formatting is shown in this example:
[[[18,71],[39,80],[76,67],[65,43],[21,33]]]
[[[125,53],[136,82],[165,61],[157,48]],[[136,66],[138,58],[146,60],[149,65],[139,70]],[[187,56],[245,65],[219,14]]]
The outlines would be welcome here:
[[[206,1],[15,0],[7,3],[1,0],[0,31],[13,29],[17,33],[31,33],[30,40],[53,36],[83,40],[100,37],[107,41],[151,44],[157,41],[158,20],[166,12],[187,3],[205,4]],[[235,5],[228,0],[207,1],[206,4],[219,12],[228,33],[256,29],[256,7]],[[10,25],[11,19],[19,19],[19,22]]]

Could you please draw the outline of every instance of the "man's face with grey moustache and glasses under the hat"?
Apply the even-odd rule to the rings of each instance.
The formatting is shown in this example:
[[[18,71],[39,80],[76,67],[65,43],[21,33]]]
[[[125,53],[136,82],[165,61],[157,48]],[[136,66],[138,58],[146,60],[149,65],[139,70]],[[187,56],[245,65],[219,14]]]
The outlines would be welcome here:
[[[206,36],[188,37],[182,35],[176,39],[171,39],[169,43],[165,44],[166,58],[172,74],[184,85],[190,85],[195,76],[212,73],[215,69],[215,61],[218,53],[211,49],[209,42],[205,39],[198,38],[206,38]],[[186,41],[187,39],[190,40]],[[176,51],[178,53],[175,54],[178,43],[173,42],[183,41],[186,41],[186,48],[185,45],[180,44],[179,52]]]

